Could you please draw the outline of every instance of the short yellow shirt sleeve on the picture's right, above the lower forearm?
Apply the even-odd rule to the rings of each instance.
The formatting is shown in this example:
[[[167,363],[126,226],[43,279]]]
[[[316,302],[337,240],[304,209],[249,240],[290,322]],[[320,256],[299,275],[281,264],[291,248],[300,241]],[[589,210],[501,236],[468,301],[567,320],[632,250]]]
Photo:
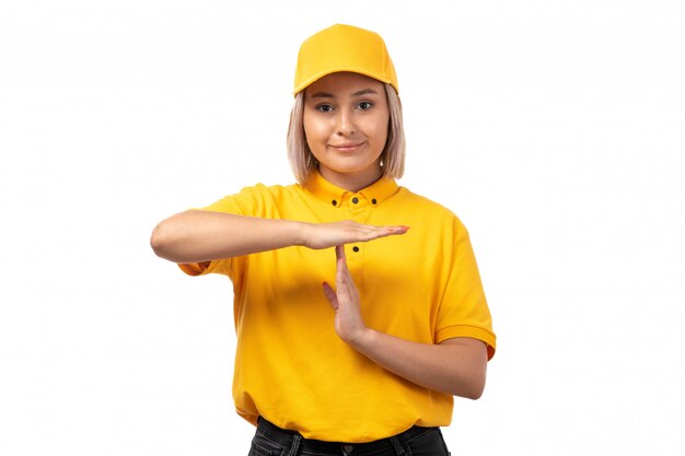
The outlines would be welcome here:
[[[440,302],[436,343],[454,337],[471,337],[487,344],[488,360],[495,355],[496,336],[485,297],[476,257],[466,227],[454,222],[455,243],[450,274]]]

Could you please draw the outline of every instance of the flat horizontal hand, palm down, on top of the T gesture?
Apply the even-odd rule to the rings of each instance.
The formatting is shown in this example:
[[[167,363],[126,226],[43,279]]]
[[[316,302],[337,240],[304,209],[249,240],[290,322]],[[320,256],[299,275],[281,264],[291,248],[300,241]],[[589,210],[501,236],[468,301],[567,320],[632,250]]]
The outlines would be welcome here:
[[[302,245],[309,248],[328,248],[405,234],[409,226],[375,226],[346,220],[334,223],[303,223]]]

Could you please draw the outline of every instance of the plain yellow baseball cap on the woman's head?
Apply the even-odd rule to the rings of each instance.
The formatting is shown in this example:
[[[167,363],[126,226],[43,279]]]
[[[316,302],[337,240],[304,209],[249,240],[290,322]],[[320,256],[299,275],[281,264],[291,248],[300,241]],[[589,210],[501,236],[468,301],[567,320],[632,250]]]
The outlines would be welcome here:
[[[390,83],[399,93],[395,67],[381,35],[336,24],[306,38],[300,47],[294,94],[339,71],[360,73]]]

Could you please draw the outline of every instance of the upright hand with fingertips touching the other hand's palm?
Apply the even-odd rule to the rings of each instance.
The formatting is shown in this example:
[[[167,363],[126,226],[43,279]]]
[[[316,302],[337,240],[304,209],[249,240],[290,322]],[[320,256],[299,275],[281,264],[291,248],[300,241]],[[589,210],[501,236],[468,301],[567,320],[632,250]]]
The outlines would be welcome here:
[[[359,292],[352,280],[349,269],[347,269],[347,260],[345,257],[345,247],[339,245],[335,248],[336,254],[336,277],[335,287],[333,288],[324,282],[324,294],[336,311],[335,330],[340,339],[347,343],[355,346],[364,332],[367,326],[361,317],[359,305]]]

